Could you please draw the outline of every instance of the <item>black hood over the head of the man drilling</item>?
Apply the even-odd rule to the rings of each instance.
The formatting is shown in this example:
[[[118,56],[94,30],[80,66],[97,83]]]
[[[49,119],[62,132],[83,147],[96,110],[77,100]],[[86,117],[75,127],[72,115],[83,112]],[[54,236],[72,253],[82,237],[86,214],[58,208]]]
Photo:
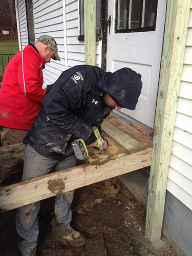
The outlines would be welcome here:
[[[129,68],[106,72],[101,75],[97,85],[101,91],[112,95],[123,108],[135,110],[142,89],[140,74]]]

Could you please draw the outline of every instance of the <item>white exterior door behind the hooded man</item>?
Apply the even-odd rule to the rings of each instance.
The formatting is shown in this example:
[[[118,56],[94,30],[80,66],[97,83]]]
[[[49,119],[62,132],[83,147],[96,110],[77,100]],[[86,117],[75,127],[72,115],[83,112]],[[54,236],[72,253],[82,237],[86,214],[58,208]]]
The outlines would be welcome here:
[[[122,20],[117,18],[115,20],[115,15],[120,15],[121,12],[122,15],[127,16],[127,13],[124,14],[123,11],[131,12],[132,10],[133,13],[136,12],[136,8],[133,9],[133,6],[131,6],[131,4],[134,4],[132,3],[134,1],[127,0],[126,3],[126,0],[109,0],[108,18],[111,18],[111,24],[108,26],[106,71],[114,72],[120,68],[127,67],[142,75],[143,88],[136,110],[131,111],[122,109],[121,111],[132,118],[153,127],[162,52],[166,0],[159,0],[157,3],[155,31],[135,32],[132,30],[132,32],[127,32],[124,30],[123,33],[120,30],[116,31],[117,28],[120,28],[121,25],[119,24],[122,23]],[[147,2],[147,0],[142,1],[142,5],[145,5],[145,1]],[[129,5],[129,8],[127,10],[119,10],[117,2],[119,6],[126,4]],[[139,2],[139,0],[135,2]],[[149,0],[148,4],[150,4]],[[143,8],[143,13],[144,12],[145,10]],[[134,27],[138,26],[138,22],[133,13],[130,15],[131,18],[129,22]],[[151,13],[151,15],[153,16],[153,13]],[[143,23],[143,20],[144,18],[142,18],[141,23]],[[121,28],[123,28],[123,25]]]

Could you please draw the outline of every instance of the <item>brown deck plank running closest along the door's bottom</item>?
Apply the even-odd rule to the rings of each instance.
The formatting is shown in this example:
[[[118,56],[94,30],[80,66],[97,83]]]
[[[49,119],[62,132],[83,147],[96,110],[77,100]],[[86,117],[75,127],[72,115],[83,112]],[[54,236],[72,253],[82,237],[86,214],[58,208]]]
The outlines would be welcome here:
[[[143,145],[146,145],[148,147],[151,147],[153,145],[153,139],[149,136],[152,135],[151,133],[147,133],[146,130],[142,129],[137,130],[133,126],[131,126],[129,123],[125,123],[122,119],[117,118],[115,116],[109,115],[106,118],[107,121],[114,124],[116,127],[118,127],[120,130],[122,130],[127,135],[131,136],[138,142],[140,142]]]

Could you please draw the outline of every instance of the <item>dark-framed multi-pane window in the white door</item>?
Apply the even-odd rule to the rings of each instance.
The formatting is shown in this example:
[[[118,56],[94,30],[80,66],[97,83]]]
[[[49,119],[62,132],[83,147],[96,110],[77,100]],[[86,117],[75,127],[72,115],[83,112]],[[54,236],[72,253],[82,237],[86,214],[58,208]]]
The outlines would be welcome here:
[[[115,33],[154,31],[158,0],[116,0]]]

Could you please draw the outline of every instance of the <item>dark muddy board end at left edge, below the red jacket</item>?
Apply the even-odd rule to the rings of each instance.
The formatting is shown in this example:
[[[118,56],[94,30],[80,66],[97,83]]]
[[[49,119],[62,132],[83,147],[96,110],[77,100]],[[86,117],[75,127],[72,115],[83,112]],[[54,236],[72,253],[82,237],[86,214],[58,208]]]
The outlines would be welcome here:
[[[23,143],[0,147],[0,166],[24,159]]]

